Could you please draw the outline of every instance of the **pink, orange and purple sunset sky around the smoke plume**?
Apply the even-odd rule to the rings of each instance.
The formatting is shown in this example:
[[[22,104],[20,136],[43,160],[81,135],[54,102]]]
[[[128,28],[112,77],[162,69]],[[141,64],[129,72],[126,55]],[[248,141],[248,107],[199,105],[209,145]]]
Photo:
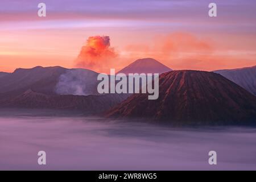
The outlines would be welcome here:
[[[0,71],[37,65],[73,68],[90,36],[109,36],[118,53],[97,60],[98,72],[121,69],[152,57],[172,69],[240,68],[256,65],[256,2],[216,1],[45,1],[47,17],[37,16],[39,2],[2,1]]]

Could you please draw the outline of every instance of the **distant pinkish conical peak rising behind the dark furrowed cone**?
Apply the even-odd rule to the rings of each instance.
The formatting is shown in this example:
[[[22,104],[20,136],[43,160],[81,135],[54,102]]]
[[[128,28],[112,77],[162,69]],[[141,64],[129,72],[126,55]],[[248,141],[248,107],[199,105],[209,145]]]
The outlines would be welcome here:
[[[118,73],[165,73],[172,71],[166,65],[163,65],[159,61],[152,58],[138,59],[133,63],[129,64],[127,67],[121,69]]]

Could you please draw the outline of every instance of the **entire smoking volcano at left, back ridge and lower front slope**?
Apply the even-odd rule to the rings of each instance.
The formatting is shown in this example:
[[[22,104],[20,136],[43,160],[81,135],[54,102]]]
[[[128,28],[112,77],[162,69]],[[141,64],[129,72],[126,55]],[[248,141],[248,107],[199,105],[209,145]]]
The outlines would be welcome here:
[[[99,95],[97,76],[89,69],[18,68],[0,77],[0,108],[64,109],[96,114],[129,96]]]

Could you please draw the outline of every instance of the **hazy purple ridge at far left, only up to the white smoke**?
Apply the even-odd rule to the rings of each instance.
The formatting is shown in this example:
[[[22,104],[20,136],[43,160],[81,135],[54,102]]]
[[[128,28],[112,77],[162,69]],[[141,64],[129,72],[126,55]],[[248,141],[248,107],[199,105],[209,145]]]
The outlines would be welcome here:
[[[35,92],[54,94],[55,85],[61,74],[67,71],[62,67],[35,67],[31,69],[16,69],[13,73],[0,78],[1,97],[13,97],[28,89]]]

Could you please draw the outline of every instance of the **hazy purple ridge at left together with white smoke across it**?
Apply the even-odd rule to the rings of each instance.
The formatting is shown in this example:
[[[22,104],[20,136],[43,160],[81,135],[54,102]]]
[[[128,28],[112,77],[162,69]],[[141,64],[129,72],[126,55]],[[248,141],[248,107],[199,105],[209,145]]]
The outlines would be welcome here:
[[[88,69],[19,68],[0,77],[0,100],[18,96],[29,89],[44,94],[76,94],[77,85],[86,85],[86,92],[92,94],[97,89],[97,75],[98,73]]]

